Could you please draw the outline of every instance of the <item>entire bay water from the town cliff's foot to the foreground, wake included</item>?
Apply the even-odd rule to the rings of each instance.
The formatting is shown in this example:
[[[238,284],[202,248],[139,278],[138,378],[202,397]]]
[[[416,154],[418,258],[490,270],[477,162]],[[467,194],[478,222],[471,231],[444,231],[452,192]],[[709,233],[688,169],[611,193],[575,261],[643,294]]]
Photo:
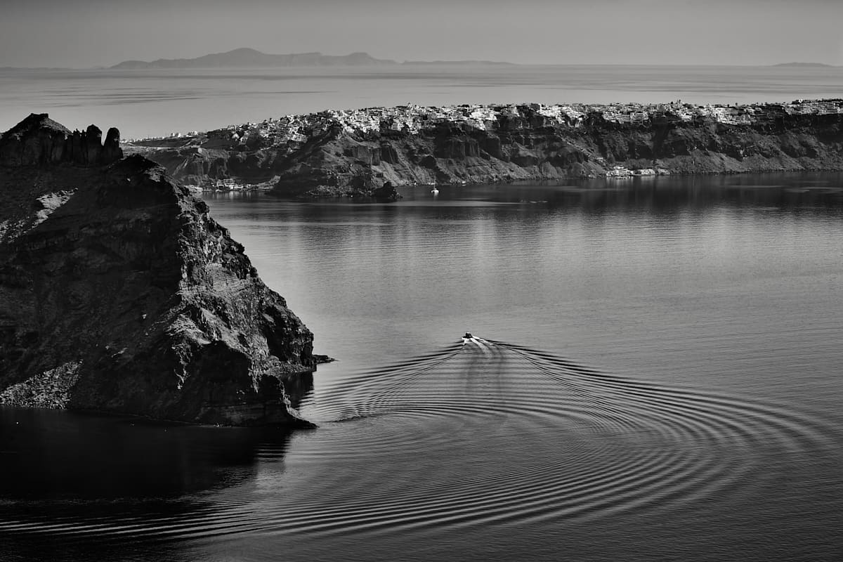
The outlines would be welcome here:
[[[440,189],[210,197],[319,429],[0,409],[0,559],[839,558],[840,174]]]

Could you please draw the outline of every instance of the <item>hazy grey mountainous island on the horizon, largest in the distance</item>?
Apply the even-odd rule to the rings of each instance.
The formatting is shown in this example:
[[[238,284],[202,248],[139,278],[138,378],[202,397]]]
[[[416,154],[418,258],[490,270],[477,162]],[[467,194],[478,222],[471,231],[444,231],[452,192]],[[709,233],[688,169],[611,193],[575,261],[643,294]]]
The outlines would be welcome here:
[[[494,61],[411,61],[396,62],[389,59],[378,59],[368,53],[356,52],[350,55],[323,55],[319,52],[292,53],[287,55],[272,55],[255,49],[241,48],[224,53],[197,56],[196,58],[158,59],[157,61],[124,61],[109,67],[111,70],[136,70],[143,68],[231,68],[231,67],[384,67],[448,64],[448,65],[497,65],[512,64]]]

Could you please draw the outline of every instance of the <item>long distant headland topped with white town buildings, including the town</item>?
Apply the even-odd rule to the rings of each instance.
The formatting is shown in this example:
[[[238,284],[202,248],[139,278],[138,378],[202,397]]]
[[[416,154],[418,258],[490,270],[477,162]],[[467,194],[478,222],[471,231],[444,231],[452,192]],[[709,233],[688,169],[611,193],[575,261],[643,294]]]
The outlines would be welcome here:
[[[398,196],[402,185],[843,169],[843,99],[400,106],[286,115],[124,145],[205,189]]]

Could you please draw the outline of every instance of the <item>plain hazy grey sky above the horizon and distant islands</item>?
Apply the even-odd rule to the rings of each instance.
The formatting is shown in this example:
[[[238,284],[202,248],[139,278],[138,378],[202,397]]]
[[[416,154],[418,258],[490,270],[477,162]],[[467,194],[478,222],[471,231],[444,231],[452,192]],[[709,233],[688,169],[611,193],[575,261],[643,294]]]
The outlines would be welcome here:
[[[404,60],[843,65],[843,0],[2,0],[0,67],[252,47]]]

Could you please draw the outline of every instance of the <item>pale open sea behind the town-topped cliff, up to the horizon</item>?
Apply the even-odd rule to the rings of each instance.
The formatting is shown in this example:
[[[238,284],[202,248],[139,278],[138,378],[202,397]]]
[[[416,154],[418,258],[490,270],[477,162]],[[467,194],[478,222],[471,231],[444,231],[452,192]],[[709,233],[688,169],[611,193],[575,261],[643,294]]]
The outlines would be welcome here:
[[[843,67],[399,66],[2,70],[0,131],[30,113],[123,138],[400,104],[781,102],[839,98]]]

